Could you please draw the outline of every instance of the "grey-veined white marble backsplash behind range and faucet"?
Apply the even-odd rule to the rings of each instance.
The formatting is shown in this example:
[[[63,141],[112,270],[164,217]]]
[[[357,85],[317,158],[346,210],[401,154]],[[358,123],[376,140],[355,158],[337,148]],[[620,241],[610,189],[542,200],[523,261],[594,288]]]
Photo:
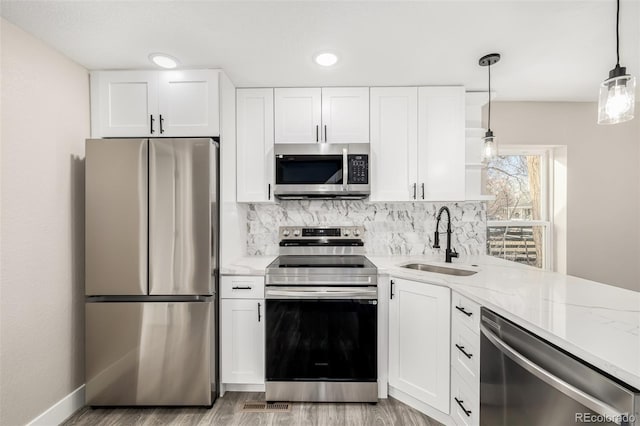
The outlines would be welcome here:
[[[436,215],[441,206],[451,210],[452,246],[460,253],[486,253],[487,215],[482,202],[460,203],[374,203],[352,200],[281,201],[278,204],[249,204],[247,211],[247,254],[278,254],[280,226],[361,225],[369,255],[420,255],[444,252],[431,248]],[[440,231],[446,230],[446,215]]]

